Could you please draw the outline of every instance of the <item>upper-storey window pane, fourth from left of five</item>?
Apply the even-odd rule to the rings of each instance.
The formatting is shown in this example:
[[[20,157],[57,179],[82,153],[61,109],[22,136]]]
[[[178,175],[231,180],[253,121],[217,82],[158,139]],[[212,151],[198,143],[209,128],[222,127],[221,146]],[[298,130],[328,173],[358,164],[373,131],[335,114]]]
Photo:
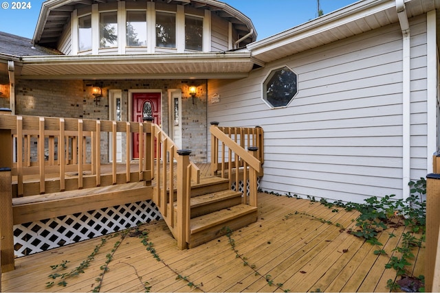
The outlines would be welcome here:
[[[156,13],[156,46],[176,47],[176,15],[174,13]]]

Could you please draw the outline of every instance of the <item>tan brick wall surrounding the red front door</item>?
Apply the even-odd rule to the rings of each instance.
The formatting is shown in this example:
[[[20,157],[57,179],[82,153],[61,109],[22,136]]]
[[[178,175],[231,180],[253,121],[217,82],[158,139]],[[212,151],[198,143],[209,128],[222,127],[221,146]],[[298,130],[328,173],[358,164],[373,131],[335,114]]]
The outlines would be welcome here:
[[[91,86],[102,87],[96,105]],[[189,86],[197,86],[192,104]],[[122,90],[122,120],[129,117],[129,89],[162,89],[162,128],[168,133],[168,89],[182,91],[182,137],[185,149],[192,150],[195,163],[207,162],[206,80],[19,80],[16,84],[17,115],[109,119],[109,89]],[[4,102],[4,103],[3,103]],[[2,106],[4,104],[4,106]],[[9,107],[9,99],[0,99],[0,107]],[[101,141],[101,161],[108,161],[108,139]]]

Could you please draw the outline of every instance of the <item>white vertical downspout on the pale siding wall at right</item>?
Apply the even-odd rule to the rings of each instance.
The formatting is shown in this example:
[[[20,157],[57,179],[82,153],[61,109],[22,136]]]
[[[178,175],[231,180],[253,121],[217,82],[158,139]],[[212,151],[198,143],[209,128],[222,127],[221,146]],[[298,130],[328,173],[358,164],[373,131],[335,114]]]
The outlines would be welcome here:
[[[402,34],[402,198],[406,200],[410,194],[410,25],[406,15],[404,0],[396,0],[397,16]]]

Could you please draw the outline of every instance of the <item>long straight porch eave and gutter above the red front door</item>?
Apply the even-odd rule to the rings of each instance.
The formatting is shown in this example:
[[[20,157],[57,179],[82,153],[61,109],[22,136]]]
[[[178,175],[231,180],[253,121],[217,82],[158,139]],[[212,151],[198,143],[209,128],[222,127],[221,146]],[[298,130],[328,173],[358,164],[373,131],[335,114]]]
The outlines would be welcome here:
[[[26,56],[25,79],[244,78],[254,67],[249,52],[130,56]]]

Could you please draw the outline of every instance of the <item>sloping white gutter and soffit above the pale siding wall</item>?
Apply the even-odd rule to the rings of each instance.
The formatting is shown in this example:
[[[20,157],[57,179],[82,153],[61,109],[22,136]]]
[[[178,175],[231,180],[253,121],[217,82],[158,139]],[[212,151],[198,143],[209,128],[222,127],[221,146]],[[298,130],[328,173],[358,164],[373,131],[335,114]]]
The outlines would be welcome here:
[[[437,0],[405,2],[408,19],[439,8]],[[308,49],[398,23],[395,0],[364,0],[291,30],[247,46],[261,62],[271,62]]]

